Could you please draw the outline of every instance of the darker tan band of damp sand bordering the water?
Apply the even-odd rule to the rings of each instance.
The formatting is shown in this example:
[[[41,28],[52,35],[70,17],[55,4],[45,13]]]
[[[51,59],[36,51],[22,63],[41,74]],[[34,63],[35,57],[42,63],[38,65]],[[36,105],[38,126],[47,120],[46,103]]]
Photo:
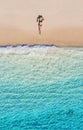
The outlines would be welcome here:
[[[15,27],[1,27],[0,46],[6,45],[56,45],[56,46],[83,46],[83,28],[55,28],[38,31],[26,31]]]

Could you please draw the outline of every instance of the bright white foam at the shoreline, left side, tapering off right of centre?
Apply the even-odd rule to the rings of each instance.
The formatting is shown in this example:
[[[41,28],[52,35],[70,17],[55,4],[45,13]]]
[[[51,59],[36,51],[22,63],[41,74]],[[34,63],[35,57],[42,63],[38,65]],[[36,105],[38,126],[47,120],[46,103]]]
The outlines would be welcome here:
[[[52,48],[51,46],[6,46],[6,47],[0,47],[0,54],[29,54],[31,52],[40,52],[40,51],[46,51],[49,48]]]

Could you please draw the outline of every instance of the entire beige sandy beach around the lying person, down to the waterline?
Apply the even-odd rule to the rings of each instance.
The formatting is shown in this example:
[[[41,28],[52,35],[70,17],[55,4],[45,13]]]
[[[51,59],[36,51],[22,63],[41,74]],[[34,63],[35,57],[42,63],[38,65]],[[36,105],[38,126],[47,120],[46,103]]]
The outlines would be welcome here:
[[[1,0],[0,46],[44,44],[83,46],[82,0]],[[45,18],[38,34],[36,18]]]

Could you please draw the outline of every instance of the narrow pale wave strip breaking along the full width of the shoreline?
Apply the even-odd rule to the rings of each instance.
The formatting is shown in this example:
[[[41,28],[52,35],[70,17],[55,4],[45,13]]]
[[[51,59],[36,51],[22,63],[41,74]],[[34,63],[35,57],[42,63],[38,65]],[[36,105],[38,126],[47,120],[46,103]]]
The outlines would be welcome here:
[[[83,53],[83,47],[58,47],[54,45],[17,45],[0,46],[0,54],[56,54],[56,53]]]

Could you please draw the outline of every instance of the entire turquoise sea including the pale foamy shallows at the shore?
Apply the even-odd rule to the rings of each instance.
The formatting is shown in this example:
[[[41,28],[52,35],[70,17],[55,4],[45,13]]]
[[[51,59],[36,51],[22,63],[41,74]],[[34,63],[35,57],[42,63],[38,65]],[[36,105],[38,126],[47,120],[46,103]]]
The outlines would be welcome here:
[[[83,130],[83,48],[0,48],[0,130]]]

